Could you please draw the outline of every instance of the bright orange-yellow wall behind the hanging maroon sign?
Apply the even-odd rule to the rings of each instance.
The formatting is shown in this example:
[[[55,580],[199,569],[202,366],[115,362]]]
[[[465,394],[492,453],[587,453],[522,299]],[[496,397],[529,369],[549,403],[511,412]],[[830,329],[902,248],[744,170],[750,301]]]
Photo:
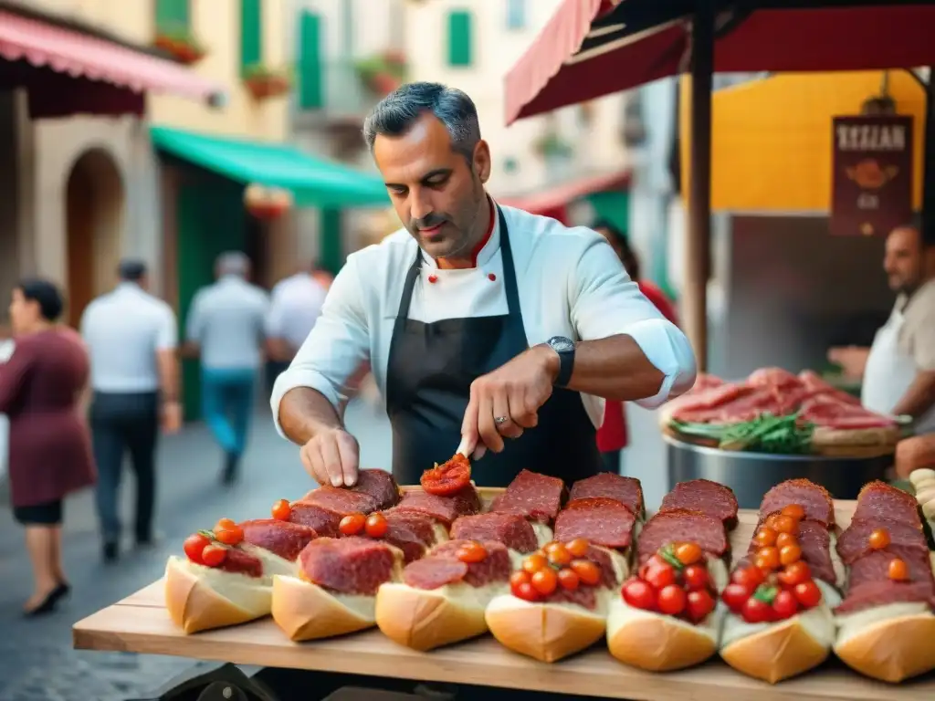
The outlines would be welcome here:
[[[714,93],[712,210],[827,211],[831,119],[860,113],[882,74],[782,74]],[[913,206],[922,197],[925,95],[905,71],[889,73],[899,114],[913,116]],[[682,80],[682,182],[688,193],[691,78]]]

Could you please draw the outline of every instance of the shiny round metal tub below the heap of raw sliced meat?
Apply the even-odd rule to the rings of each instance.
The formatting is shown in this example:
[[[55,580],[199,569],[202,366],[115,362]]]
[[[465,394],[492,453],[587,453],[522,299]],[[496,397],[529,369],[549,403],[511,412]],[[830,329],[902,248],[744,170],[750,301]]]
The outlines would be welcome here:
[[[805,478],[820,484],[835,499],[856,499],[873,479],[885,479],[893,454],[873,458],[823,455],[773,455],[721,451],[663,436],[669,462],[669,487],[686,479],[711,479],[730,487],[740,508],[759,508],[763,494],[786,479]]]

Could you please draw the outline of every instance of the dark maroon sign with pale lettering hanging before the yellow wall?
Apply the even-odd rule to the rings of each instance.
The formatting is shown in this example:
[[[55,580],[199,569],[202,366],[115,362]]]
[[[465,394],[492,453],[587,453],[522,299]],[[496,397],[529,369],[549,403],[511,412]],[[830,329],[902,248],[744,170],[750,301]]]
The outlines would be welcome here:
[[[886,236],[913,215],[913,118],[835,117],[833,236]]]

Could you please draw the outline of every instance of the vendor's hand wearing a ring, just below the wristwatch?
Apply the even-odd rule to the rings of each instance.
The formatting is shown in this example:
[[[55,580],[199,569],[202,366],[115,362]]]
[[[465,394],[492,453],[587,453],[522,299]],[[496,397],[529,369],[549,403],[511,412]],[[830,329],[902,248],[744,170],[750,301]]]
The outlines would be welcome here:
[[[518,438],[524,429],[535,427],[539,408],[552,396],[557,374],[555,351],[534,346],[471,382],[470,401],[461,424],[468,456],[474,453],[479,458],[484,449],[500,452],[504,437]]]

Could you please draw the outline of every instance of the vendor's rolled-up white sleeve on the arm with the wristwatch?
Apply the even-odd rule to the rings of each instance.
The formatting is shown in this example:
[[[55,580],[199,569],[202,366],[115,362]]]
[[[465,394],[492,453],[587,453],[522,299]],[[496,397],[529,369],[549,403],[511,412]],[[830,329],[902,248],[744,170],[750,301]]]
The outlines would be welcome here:
[[[626,334],[663,375],[659,392],[637,401],[656,408],[695,384],[697,365],[688,338],[629,278],[603,236],[592,232],[570,282],[571,322],[582,340]]]

